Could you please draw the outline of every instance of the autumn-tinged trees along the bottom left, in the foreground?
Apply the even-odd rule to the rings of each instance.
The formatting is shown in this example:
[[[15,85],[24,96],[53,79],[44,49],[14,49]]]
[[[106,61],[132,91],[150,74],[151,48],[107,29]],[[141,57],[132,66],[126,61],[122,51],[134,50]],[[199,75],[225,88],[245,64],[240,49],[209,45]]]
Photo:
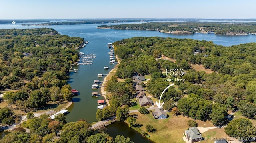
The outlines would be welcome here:
[[[29,129],[29,133],[23,128]],[[27,114],[27,121],[21,127],[16,127],[0,140],[1,143],[133,143],[129,138],[117,135],[114,139],[104,133],[106,127],[98,133],[90,128],[84,120],[66,122],[64,114],[58,114],[50,119],[48,114],[34,117]],[[60,131],[60,133],[59,133]]]

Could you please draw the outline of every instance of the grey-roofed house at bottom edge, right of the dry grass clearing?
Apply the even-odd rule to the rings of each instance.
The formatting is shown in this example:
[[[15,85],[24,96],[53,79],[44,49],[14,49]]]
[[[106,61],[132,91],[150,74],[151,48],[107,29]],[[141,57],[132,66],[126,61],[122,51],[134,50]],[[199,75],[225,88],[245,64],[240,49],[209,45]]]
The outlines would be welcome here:
[[[199,133],[197,127],[190,127],[188,130],[185,130],[186,139],[190,141],[190,143],[202,141],[203,137]]]

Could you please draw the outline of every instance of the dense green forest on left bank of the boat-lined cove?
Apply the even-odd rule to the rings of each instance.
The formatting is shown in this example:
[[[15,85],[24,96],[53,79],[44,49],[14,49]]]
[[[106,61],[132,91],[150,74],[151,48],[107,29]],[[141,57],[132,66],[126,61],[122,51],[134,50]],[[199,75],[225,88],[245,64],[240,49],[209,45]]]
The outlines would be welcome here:
[[[0,29],[0,89],[18,89],[4,94],[10,108],[26,111],[71,100],[66,73],[78,59],[72,47],[83,42],[49,28]]]

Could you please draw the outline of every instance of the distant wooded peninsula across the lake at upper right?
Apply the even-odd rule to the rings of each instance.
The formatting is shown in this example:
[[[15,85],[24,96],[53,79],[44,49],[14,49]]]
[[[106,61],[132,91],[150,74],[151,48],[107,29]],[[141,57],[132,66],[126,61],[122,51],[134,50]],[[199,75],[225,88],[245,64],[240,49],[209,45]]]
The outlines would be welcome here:
[[[143,24],[101,25],[101,28],[130,29],[130,30],[156,30],[156,31],[188,31],[207,32],[215,34],[250,34],[256,33],[256,23],[220,23],[220,22],[149,22]]]

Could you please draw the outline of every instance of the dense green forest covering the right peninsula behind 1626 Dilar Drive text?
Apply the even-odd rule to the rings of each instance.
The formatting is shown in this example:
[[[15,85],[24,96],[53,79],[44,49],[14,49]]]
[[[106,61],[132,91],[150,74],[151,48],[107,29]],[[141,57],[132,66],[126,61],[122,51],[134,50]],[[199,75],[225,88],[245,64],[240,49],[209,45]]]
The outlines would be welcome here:
[[[116,76],[129,79],[135,71],[141,75],[151,74],[146,87],[156,98],[169,85],[163,82],[165,69],[186,70],[183,76],[168,75],[185,82],[175,81],[178,90],[169,88],[164,93],[165,109],[172,110],[177,102],[180,114],[211,120],[215,126],[227,125],[228,110],[236,108],[243,116],[256,118],[256,43],[224,47],[205,40],[133,37],[113,44],[115,53],[122,59]],[[160,59],[162,55],[176,62]],[[190,64],[203,65],[215,72],[195,71]],[[229,131],[226,133],[232,136]],[[255,136],[256,132],[248,135]]]

